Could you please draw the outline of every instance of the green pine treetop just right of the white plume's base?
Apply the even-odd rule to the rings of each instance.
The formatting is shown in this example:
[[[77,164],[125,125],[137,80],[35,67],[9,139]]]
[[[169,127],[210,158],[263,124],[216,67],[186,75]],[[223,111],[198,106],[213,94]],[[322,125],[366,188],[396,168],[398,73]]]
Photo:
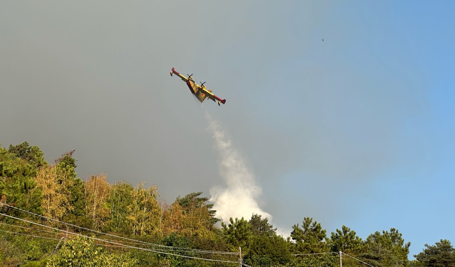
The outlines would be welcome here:
[[[294,251],[300,253],[321,253],[329,250],[326,242],[326,231],[313,218],[303,218],[302,228],[293,225],[291,237],[295,240]]]

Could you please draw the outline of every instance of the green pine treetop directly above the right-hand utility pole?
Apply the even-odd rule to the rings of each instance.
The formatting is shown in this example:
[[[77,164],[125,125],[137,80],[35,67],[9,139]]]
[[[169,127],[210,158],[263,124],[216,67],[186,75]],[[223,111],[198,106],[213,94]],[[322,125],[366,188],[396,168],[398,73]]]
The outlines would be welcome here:
[[[332,232],[330,241],[330,250],[332,252],[342,251],[357,255],[364,247],[362,238],[356,236],[354,231],[344,225],[341,230],[337,229],[336,232]]]

